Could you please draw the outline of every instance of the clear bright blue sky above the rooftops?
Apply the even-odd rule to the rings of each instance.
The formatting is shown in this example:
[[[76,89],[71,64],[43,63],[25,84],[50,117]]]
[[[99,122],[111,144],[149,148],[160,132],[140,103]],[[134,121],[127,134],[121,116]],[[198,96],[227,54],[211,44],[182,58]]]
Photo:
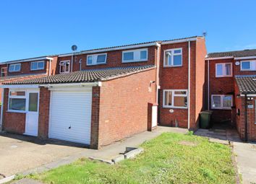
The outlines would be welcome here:
[[[256,1],[0,1],[0,61],[206,37],[208,52],[256,48]]]

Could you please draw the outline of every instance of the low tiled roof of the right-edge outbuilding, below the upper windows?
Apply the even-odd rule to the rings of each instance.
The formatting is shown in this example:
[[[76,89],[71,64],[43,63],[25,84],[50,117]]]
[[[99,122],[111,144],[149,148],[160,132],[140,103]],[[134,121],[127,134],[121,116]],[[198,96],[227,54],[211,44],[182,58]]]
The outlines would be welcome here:
[[[256,93],[256,75],[252,76],[236,76],[236,84],[239,92],[243,94]]]

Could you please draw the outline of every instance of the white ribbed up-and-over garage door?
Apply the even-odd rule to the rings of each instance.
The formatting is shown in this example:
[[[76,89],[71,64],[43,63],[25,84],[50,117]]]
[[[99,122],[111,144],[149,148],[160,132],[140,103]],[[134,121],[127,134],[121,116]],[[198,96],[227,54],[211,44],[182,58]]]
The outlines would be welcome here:
[[[49,137],[90,144],[92,90],[52,91]]]

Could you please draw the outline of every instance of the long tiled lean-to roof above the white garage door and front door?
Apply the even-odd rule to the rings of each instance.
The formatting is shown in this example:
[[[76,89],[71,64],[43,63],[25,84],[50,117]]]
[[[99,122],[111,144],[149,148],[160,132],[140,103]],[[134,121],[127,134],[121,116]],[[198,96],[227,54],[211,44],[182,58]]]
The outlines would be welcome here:
[[[14,82],[4,82],[4,84],[59,84],[78,82],[99,82],[109,79],[135,74],[140,71],[153,69],[155,66],[129,66],[107,69],[88,69],[84,71],[74,71],[69,74],[57,74],[54,76],[43,76],[35,79],[25,79]]]

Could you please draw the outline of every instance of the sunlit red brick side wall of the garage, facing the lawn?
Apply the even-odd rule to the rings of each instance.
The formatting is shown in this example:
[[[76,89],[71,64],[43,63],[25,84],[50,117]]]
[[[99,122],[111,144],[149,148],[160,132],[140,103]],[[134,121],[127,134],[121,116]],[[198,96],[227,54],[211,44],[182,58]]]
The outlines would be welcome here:
[[[155,69],[102,82],[99,146],[148,128],[148,103],[155,102]]]

